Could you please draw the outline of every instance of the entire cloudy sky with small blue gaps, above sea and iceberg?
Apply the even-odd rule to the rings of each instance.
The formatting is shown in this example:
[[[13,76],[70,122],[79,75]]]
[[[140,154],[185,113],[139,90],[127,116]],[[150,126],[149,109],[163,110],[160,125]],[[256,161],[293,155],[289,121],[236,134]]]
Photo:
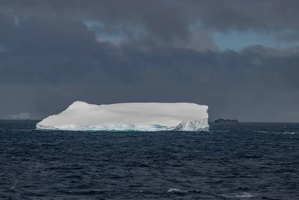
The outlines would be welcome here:
[[[0,1],[0,117],[76,100],[299,121],[298,0]]]

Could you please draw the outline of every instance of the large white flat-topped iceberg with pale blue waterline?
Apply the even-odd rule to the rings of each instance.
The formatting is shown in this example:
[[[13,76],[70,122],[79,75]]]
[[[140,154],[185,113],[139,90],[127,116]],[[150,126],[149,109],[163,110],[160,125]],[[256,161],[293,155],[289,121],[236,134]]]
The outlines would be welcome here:
[[[37,130],[207,131],[208,106],[195,103],[116,103],[76,101],[36,124]]]

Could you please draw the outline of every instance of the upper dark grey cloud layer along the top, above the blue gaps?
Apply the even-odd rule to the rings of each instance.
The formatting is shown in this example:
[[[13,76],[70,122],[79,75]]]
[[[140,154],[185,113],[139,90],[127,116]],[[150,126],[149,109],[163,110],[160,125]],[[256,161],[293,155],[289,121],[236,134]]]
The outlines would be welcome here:
[[[299,30],[298,0],[2,0],[0,6],[17,15],[96,20],[105,25],[102,31],[144,26],[163,41],[187,40],[196,22],[217,31]]]

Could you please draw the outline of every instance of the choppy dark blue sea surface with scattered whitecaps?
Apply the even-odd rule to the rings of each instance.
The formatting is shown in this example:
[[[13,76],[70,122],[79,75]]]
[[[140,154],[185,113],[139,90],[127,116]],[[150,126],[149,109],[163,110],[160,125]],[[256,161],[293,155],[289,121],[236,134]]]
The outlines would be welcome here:
[[[36,131],[0,121],[0,199],[299,199],[299,124]]]

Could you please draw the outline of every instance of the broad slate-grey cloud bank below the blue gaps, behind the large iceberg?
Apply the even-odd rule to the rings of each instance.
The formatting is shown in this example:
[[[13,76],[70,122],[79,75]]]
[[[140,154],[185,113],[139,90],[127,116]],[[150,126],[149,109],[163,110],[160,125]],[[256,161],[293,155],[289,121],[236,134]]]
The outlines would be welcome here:
[[[16,25],[4,15],[0,23],[1,115],[55,114],[82,100],[194,102],[210,107],[211,120],[299,118],[295,53],[263,55],[260,49],[267,48],[261,46],[241,52],[155,45],[144,50],[130,42],[97,42],[82,21],[70,18],[33,17]]]

